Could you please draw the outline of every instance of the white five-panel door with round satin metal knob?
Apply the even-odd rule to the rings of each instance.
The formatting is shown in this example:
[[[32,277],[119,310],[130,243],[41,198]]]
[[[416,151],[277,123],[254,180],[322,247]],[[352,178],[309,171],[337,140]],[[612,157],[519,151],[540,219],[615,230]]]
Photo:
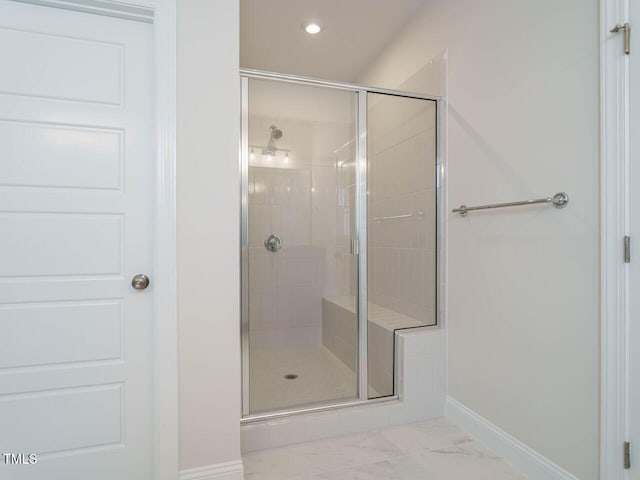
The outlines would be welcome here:
[[[151,25],[0,0],[2,479],[153,477],[151,54]]]

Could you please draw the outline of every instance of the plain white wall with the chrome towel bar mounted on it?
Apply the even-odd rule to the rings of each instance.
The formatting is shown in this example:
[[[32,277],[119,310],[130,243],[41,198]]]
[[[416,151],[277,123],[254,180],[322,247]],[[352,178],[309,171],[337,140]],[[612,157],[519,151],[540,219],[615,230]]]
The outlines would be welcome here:
[[[449,394],[598,477],[598,3],[430,0],[358,79],[448,49],[450,206],[567,191],[565,210],[449,216]]]

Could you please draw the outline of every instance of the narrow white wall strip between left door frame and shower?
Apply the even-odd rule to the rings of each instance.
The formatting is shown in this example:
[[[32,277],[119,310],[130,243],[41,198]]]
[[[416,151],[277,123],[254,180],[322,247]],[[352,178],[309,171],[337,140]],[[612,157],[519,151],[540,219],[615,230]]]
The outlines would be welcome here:
[[[238,0],[178,2],[180,467],[240,459]]]

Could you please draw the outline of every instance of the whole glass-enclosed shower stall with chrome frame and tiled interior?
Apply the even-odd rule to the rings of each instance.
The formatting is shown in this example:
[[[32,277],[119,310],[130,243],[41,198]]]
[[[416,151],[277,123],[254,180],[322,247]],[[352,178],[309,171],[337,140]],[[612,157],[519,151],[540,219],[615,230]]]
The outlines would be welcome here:
[[[438,322],[440,100],[241,71],[245,419],[397,395]]]

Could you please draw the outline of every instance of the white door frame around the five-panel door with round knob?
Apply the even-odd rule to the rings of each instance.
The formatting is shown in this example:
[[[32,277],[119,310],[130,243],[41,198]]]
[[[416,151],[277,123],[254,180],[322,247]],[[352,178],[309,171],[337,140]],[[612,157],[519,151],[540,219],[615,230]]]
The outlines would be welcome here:
[[[16,0],[153,25],[153,458],[154,480],[177,480],[178,312],[176,225],[177,0]]]

